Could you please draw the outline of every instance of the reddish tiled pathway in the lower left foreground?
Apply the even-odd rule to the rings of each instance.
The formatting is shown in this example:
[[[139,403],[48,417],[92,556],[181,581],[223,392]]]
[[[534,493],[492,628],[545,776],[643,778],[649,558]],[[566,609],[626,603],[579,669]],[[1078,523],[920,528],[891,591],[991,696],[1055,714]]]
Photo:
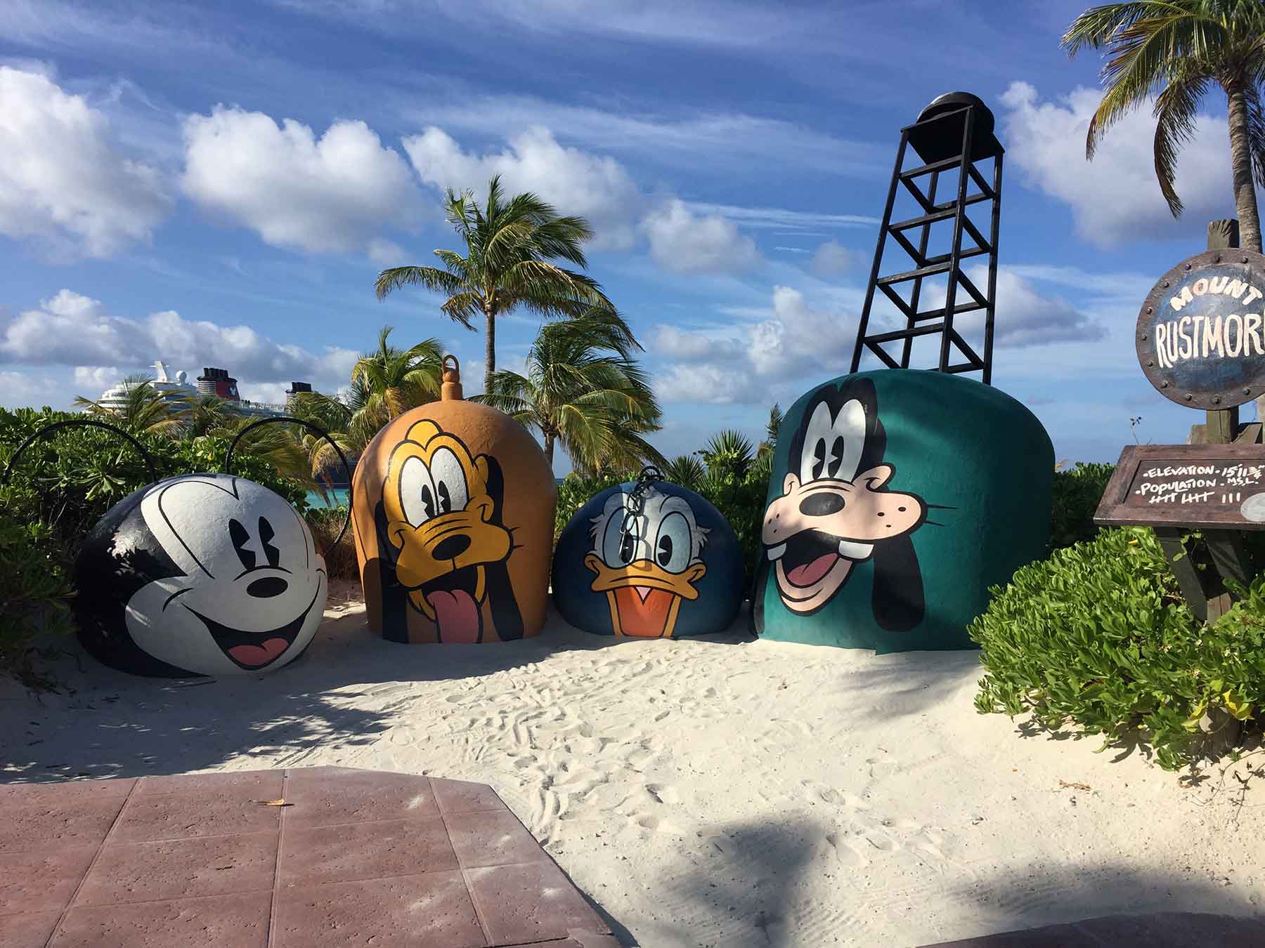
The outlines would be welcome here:
[[[310,767],[0,786],[0,945],[183,944],[619,948],[484,784]]]

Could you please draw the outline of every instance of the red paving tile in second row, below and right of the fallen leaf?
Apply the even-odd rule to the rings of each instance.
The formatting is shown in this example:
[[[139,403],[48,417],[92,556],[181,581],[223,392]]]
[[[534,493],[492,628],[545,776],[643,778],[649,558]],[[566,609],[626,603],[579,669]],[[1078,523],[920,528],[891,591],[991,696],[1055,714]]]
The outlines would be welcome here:
[[[286,820],[280,882],[348,882],[458,867],[439,817],[292,829]]]

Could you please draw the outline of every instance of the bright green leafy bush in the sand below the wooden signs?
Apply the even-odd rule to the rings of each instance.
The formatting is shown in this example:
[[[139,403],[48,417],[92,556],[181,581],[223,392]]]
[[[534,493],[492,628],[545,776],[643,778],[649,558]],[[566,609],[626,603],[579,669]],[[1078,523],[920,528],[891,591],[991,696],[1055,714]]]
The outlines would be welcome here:
[[[1103,530],[994,588],[970,635],[975,707],[1069,723],[1104,746],[1150,744],[1161,767],[1199,760],[1204,713],[1254,717],[1265,690],[1265,579],[1213,626],[1182,600],[1147,528]]]

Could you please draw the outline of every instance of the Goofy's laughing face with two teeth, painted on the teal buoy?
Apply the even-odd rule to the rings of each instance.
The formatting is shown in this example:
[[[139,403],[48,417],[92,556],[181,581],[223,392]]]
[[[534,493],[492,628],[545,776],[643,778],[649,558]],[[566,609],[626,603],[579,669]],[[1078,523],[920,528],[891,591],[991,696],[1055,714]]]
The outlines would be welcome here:
[[[782,604],[808,616],[834,598],[854,562],[878,560],[875,550],[916,530],[926,504],[885,489],[896,470],[882,463],[885,436],[872,383],[826,387],[803,418],[760,538]]]

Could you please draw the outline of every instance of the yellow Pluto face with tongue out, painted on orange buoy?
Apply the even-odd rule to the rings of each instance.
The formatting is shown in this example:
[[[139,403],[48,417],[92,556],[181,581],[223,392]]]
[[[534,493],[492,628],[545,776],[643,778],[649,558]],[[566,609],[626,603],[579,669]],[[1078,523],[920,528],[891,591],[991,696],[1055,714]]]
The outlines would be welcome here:
[[[440,641],[481,641],[488,569],[512,549],[501,492],[496,461],[471,456],[433,421],[412,425],[391,451],[382,506],[396,576]]]

